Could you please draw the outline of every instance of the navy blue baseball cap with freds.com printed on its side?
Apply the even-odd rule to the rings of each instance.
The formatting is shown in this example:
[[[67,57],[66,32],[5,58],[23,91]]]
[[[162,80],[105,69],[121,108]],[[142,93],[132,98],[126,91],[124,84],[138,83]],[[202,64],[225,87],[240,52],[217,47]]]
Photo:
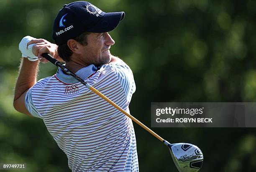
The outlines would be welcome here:
[[[124,12],[104,13],[86,1],[73,2],[64,5],[54,19],[52,38],[59,46],[83,32],[109,32],[124,16]]]

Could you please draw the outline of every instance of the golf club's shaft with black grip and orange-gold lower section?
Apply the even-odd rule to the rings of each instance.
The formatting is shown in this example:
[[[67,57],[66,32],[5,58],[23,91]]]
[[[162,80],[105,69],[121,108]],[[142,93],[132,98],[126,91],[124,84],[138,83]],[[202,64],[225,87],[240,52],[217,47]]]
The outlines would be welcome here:
[[[118,109],[119,111],[121,111],[123,114],[125,114],[126,116],[128,116],[130,119],[132,119],[134,122],[136,122],[138,125],[140,125],[143,129],[146,129],[146,131],[148,131],[149,133],[151,133],[154,137],[156,137],[157,139],[159,139],[161,142],[164,141],[164,139],[162,137],[160,137],[158,134],[156,134],[155,132],[153,132],[151,129],[149,129],[146,125],[142,124],[138,119],[134,118],[131,114],[128,114],[125,110],[123,110],[120,106],[118,106],[117,104],[115,104],[113,101],[111,101],[110,99],[108,99],[108,97],[104,96],[102,93],[100,93],[100,91],[98,91],[97,89],[95,89],[93,86],[91,86],[90,84],[88,84],[87,82],[85,82],[84,80],[82,80],[81,78],[79,78],[76,74],[72,73],[71,71],[69,71],[69,69],[67,69],[65,66],[61,65],[61,63],[59,61],[57,61],[56,59],[54,59],[51,55],[44,53],[42,54],[42,56],[44,58],[46,58],[48,61],[50,61],[51,63],[53,63],[54,65],[56,65],[57,67],[60,67],[61,69],[63,69],[64,71],[66,71],[67,73],[69,73],[70,75],[72,75],[74,78],[77,79],[77,81],[81,82],[82,84],[84,84],[87,88],[89,88],[92,92],[94,92],[95,94],[97,94],[98,96],[100,96],[102,99],[104,99],[105,101],[107,101],[109,104],[111,104],[112,106],[114,106],[116,109]]]

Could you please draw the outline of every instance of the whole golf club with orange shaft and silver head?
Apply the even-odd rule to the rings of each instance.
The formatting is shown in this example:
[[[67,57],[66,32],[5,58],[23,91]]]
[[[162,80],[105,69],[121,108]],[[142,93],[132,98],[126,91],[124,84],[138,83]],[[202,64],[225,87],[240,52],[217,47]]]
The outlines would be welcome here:
[[[108,101],[108,103],[113,105],[116,109],[118,109],[123,114],[125,114],[126,116],[131,118],[134,122],[136,122],[138,125],[140,125],[144,129],[146,129],[148,132],[150,132],[154,137],[156,137],[161,142],[163,142],[169,148],[171,155],[172,155],[172,159],[174,161],[174,164],[176,165],[179,172],[197,172],[200,170],[200,168],[202,167],[202,162],[203,162],[203,154],[197,146],[195,146],[193,144],[189,144],[189,143],[170,144],[169,142],[167,142],[166,140],[161,138],[158,134],[156,134],[151,129],[149,129],[147,126],[145,126],[140,121],[138,121],[138,119],[136,119],[133,116],[131,116],[130,114],[128,114],[120,106],[118,106],[113,101],[108,99],[106,96],[101,94],[99,91],[97,91],[97,89],[95,89],[90,84],[85,82],[82,78],[79,78],[79,76],[77,76],[76,74],[69,71],[69,69],[67,69],[65,66],[61,65],[61,63],[59,61],[57,61],[56,59],[54,59],[51,55],[49,55],[48,53],[44,53],[44,54],[42,54],[42,56],[44,58],[46,58],[48,61],[50,61],[51,63],[53,63],[54,65],[56,65],[57,67],[64,70],[69,75],[76,78],[77,81],[84,84],[84,86],[86,86],[88,89],[93,91],[95,94],[99,95],[105,101]]]

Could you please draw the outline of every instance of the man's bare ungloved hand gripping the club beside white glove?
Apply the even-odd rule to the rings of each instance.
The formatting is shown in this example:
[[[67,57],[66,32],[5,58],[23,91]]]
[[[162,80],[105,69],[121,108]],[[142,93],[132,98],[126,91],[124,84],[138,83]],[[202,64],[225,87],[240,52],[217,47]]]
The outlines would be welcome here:
[[[53,56],[55,59],[59,60],[61,59],[58,55],[57,52],[57,48],[58,46],[54,43],[50,43],[49,41],[45,40],[45,39],[33,39],[31,41],[28,42],[27,44],[27,48],[30,44],[35,44],[32,47],[32,53],[38,57],[38,59],[42,62],[42,63],[47,63],[49,62],[48,60],[46,60],[46,58],[44,58],[42,56],[43,53],[48,53],[51,56]]]

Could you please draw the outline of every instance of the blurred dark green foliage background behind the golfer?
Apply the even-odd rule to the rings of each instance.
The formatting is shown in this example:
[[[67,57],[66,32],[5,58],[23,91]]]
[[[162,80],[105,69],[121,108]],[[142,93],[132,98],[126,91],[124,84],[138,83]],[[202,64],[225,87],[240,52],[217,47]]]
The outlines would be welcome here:
[[[0,1],[0,163],[26,163],[27,172],[70,171],[43,121],[12,106],[18,43],[26,35],[53,42],[53,20],[70,2]],[[137,90],[130,110],[147,126],[151,102],[256,101],[255,0],[90,2],[105,12],[125,11],[125,20],[110,32],[115,40],[111,52],[133,70]],[[38,78],[56,72],[50,63],[40,66]],[[134,127],[140,171],[176,172],[167,147]],[[255,172],[254,128],[153,130],[169,142],[200,147],[205,157],[201,172]]]

